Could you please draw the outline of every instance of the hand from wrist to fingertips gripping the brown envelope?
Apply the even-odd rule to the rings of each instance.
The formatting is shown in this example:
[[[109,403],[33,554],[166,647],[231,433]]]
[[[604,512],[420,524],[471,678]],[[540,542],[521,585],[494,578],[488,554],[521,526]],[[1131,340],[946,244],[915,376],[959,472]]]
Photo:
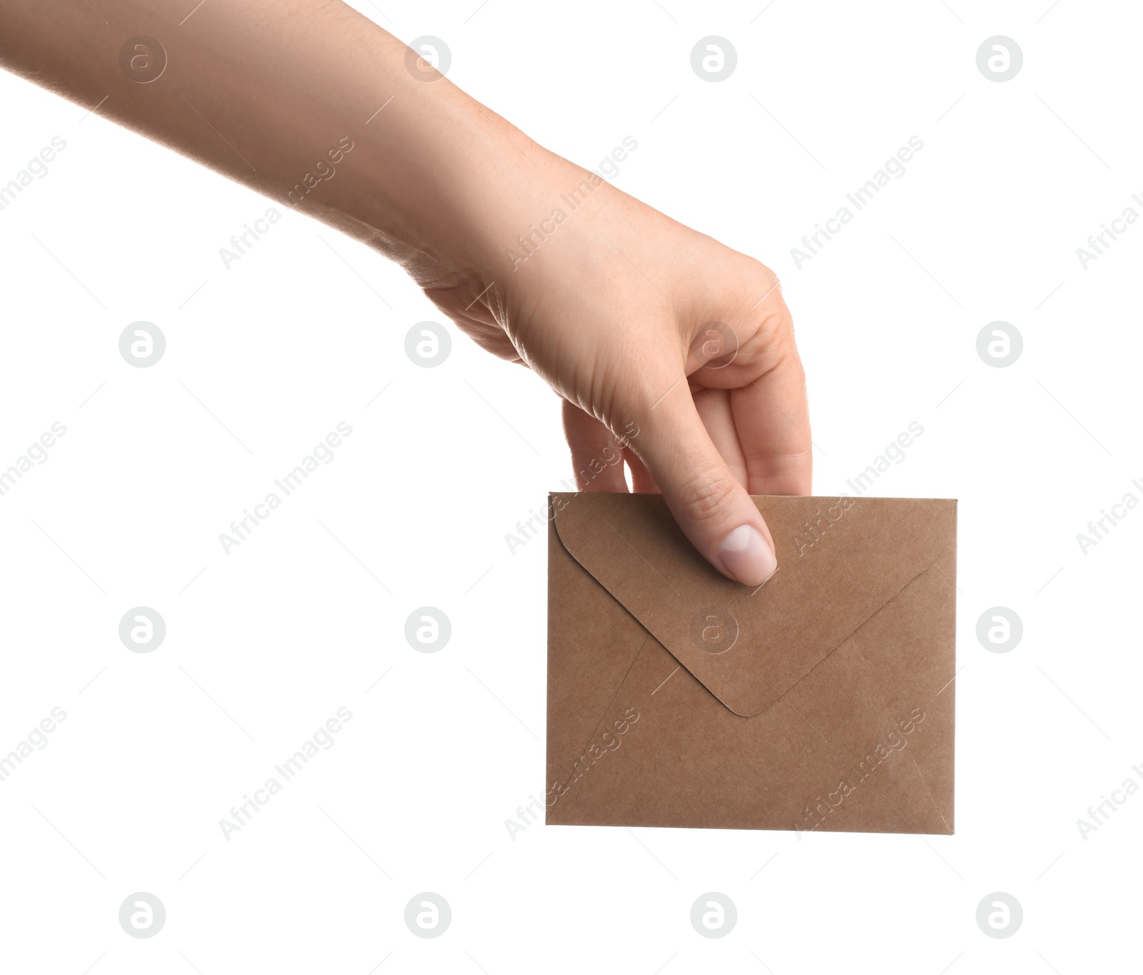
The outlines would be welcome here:
[[[426,293],[563,397],[581,490],[625,492],[623,465],[608,462],[622,451],[634,490],[661,490],[712,565],[765,582],[774,542],[749,494],[809,493],[812,467],[777,279],[599,177],[525,152],[543,160],[538,175],[517,186],[522,206],[493,220],[483,266]],[[529,228],[539,233],[521,247]]]

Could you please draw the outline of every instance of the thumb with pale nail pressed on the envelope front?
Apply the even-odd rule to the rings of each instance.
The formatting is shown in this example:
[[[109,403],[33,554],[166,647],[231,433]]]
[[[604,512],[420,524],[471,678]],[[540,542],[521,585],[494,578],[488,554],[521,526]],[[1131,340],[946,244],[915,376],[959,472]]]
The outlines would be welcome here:
[[[730,473],[695,409],[687,380],[649,411],[631,445],[679,527],[724,575],[760,586],[777,570],[774,540],[746,489]]]

